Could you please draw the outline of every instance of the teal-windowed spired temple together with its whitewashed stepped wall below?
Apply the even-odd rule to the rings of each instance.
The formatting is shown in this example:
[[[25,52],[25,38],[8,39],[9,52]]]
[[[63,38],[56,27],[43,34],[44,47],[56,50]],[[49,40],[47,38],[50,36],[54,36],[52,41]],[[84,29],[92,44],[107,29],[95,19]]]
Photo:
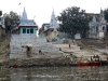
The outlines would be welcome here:
[[[48,42],[45,38],[37,37],[37,24],[27,19],[27,13],[24,9],[21,24],[18,26],[19,33],[12,35],[10,42],[10,59],[13,58],[27,58],[27,48],[30,46],[31,57],[37,58],[37,54],[39,54],[39,50],[45,54],[59,54],[63,55],[63,52],[59,51],[58,48],[55,48],[51,42]]]

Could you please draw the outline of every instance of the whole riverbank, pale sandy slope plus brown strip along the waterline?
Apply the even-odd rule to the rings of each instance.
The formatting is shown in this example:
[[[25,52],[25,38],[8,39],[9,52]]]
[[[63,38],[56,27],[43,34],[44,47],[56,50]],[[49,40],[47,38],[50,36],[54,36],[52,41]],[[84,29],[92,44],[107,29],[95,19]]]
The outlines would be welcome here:
[[[91,56],[98,55],[100,60],[107,60],[107,54],[104,54],[99,51],[91,50],[90,48],[80,49],[78,45],[80,41],[76,43],[70,43],[70,48],[68,43],[53,43],[54,46],[60,48],[59,54],[53,53],[42,53],[36,54],[33,53],[31,57],[24,59],[11,59],[9,60],[8,54],[3,54],[0,56],[0,65],[71,65],[76,63],[87,63],[91,62]],[[80,45],[81,44],[80,42]]]

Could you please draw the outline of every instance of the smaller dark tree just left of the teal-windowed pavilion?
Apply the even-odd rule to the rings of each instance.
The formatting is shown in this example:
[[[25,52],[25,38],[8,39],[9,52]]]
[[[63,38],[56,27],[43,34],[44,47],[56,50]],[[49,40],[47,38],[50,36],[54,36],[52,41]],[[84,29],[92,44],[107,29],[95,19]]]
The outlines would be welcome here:
[[[5,18],[4,24],[8,31],[11,31],[19,23],[19,15],[15,12],[4,13],[3,17]]]

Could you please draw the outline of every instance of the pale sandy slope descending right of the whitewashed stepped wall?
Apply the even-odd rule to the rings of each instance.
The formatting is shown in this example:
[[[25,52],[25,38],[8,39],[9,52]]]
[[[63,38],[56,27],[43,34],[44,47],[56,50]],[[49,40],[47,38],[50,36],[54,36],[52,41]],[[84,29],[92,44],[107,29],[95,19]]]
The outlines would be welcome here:
[[[103,52],[80,50],[80,48],[77,44],[71,44],[70,49],[68,44],[54,44],[54,45],[57,48],[60,48],[63,52],[67,52],[68,56],[70,54],[72,54],[73,56],[77,56],[77,62],[91,60],[91,56],[94,56],[94,55],[98,55],[102,60],[107,60],[107,55],[103,54]]]

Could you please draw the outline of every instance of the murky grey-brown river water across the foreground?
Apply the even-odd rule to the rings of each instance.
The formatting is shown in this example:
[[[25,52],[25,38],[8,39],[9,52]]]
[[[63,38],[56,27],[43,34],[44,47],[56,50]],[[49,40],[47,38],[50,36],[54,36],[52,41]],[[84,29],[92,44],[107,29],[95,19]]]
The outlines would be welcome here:
[[[0,67],[0,81],[107,81],[108,66],[103,67]]]

